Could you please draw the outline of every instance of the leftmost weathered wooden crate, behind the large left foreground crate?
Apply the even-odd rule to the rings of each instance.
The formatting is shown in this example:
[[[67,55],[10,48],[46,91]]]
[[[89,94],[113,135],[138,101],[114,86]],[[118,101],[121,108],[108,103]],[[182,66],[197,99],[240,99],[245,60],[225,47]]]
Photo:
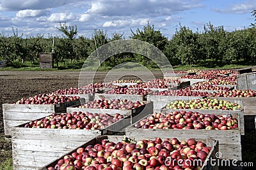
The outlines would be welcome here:
[[[61,104],[3,104],[4,134],[11,135],[11,127],[42,118],[49,113],[66,112],[67,107],[80,104],[79,99]]]

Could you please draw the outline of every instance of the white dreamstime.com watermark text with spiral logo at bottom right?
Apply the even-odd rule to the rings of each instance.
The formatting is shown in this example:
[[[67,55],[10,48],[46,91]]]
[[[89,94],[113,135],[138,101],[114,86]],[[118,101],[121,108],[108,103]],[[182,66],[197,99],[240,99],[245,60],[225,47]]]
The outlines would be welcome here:
[[[240,162],[236,159],[221,159],[223,157],[221,152],[216,152],[215,157],[209,157],[203,161],[202,159],[196,159],[196,157],[190,157],[188,159],[173,159],[168,157],[164,164],[169,167],[185,166],[185,167],[197,167],[197,166],[218,166],[218,167],[253,167],[253,162]]]

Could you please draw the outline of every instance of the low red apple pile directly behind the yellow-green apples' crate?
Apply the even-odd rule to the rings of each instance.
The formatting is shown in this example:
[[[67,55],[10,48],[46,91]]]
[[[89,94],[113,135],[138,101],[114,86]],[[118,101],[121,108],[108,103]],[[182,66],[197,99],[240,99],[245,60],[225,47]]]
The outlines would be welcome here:
[[[155,96],[209,96],[208,92],[191,91],[189,88],[153,92]]]

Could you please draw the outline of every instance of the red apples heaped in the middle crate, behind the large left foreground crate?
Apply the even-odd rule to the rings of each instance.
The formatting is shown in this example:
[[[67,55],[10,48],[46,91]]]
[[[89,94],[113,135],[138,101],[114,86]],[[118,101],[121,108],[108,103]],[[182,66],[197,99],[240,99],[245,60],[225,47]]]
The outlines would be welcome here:
[[[140,101],[132,102],[127,99],[96,99],[85,104],[77,106],[78,108],[93,108],[93,109],[113,109],[113,110],[131,110],[145,105],[146,103]]]

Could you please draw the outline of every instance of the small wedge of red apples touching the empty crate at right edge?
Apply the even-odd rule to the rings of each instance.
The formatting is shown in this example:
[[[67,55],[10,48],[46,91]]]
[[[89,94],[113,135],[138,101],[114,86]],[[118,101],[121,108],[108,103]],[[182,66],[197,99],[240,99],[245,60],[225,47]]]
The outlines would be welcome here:
[[[227,76],[227,77],[221,77],[221,78],[216,78],[214,80],[209,80],[209,81],[202,81],[198,84],[204,84],[204,85],[236,85],[236,75],[234,76]]]

